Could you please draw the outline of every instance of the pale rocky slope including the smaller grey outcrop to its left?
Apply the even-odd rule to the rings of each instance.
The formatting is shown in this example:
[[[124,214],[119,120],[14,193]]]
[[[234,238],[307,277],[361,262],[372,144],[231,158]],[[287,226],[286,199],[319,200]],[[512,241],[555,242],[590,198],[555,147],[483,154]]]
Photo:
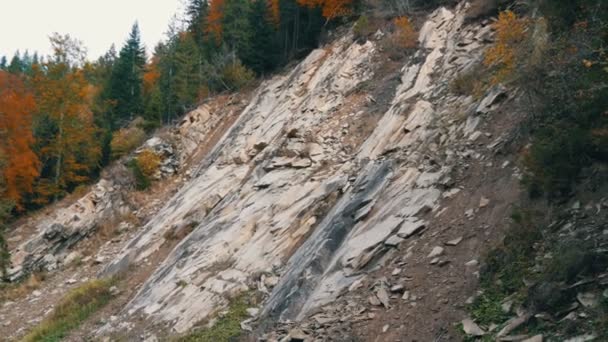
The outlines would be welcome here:
[[[493,164],[509,130],[480,131],[512,96],[500,87],[479,99],[449,91],[492,41],[489,25],[465,23],[466,9],[430,14],[420,48],[397,66],[386,59],[382,31],[365,43],[347,35],[265,81],[234,115],[219,102],[190,113],[173,133],[183,165],[175,194],[129,207],[121,196],[131,189],[109,174],[74,205],[30,224],[35,234],[16,247],[12,277],[54,271],[102,222],[136,211],[145,224],[98,260],[99,276],[158,266],[96,334],[184,333],[252,290],[267,295],[254,315],[264,334],[342,301],[397,255],[401,265],[423,260],[424,270],[445,265],[437,233],[423,233],[446,215],[472,219],[489,203],[475,193],[476,206],[457,214],[458,203],[443,205],[470,191],[457,179],[472,164],[507,170],[497,176],[506,179],[501,186],[518,175],[504,160]],[[393,285],[405,297],[399,282],[380,281],[372,305],[391,306]],[[365,311],[357,305],[353,317]]]

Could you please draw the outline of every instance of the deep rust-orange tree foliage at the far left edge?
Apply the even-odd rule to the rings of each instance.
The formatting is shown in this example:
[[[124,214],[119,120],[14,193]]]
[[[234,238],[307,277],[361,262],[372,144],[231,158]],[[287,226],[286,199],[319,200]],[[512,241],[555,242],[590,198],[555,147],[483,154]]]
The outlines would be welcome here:
[[[32,112],[35,110],[33,95],[23,82],[0,70],[0,155],[4,156],[3,197],[12,200],[22,209],[23,195],[31,193],[39,175],[40,162],[32,151]]]

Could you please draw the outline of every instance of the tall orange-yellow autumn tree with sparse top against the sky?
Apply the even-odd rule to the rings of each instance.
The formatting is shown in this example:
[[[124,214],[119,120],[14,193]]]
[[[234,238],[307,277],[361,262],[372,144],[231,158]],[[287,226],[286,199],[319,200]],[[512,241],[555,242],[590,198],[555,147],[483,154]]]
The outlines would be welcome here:
[[[88,181],[101,152],[91,111],[95,88],[78,68],[84,49],[67,35],[56,35],[51,43],[53,57],[43,70],[35,70],[33,81],[39,121],[50,127],[39,142],[43,168],[36,203],[57,199]]]

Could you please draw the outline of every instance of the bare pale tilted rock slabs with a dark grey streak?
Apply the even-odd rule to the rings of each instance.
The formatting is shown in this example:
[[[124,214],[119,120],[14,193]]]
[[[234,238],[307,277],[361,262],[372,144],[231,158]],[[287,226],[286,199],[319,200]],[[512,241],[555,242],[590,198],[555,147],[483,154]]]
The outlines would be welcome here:
[[[405,62],[390,108],[369,136],[350,137],[349,125],[332,118],[344,108],[353,120],[362,115],[349,107],[349,94],[374,76],[372,41],[345,37],[263,84],[191,181],[105,269],[111,275],[141,263],[167,232],[193,227],[124,316],[143,314],[184,332],[227,305],[227,295],[257,286],[272,288],[262,317],[302,319],[415,238],[450,191],[450,146],[504,97],[494,91],[479,104],[447,91],[481,58],[490,31],[463,21],[462,7],[429,17],[421,49]],[[454,112],[468,119],[455,120]],[[205,109],[196,117],[207,117]],[[345,153],[344,136],[359,138],[358,150]],[[185,146],[193,150],[195,142]]]

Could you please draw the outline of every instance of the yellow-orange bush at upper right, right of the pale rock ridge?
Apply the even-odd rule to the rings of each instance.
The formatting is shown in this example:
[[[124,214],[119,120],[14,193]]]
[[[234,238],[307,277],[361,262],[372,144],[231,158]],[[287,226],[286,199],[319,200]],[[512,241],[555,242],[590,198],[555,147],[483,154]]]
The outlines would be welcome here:
[[[486,51],[484,64],[497,67],[494,83],[513,72],[517,63],[517,50],[526,39],[528,21],[511,11],[501,12],[494,23],[496,43]]]

